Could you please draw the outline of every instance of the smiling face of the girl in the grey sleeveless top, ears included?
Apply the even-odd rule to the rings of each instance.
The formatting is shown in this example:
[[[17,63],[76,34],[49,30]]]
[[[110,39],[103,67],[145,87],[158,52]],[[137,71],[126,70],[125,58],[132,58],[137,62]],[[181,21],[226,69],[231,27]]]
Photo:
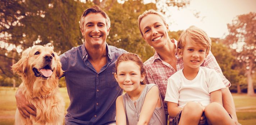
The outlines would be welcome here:
[[[115,79],[123,90],[126,92],[139,90],[145,74],[141,74],[138,64],[133,61],[122,61],[116,69]]]

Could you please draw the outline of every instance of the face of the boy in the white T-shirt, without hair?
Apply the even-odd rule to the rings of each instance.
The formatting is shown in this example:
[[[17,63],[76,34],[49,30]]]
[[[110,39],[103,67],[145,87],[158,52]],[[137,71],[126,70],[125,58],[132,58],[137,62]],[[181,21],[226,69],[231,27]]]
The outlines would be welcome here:
[[[206,57],[206,47],[192,43],[189,38],[186,38],[186,45],[183,51],[178,49],[179,56],[182,56],[184,68],[191,70],[199,69]]]

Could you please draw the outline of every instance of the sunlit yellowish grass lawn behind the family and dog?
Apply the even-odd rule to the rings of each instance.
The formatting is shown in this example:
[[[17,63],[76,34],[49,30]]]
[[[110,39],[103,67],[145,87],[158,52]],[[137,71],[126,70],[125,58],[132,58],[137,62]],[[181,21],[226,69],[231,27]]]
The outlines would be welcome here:
[[[59,89],[65,101],[65,111],[69,106],[67,88]],[[16,110],[15,92],[17,88],[0,87],[0,125],[13,125]],[[248,107],[237,110],[239,123],[242,125],[256,125],[256,96],[249,97],[246,94],[232,94],[236,108]]]

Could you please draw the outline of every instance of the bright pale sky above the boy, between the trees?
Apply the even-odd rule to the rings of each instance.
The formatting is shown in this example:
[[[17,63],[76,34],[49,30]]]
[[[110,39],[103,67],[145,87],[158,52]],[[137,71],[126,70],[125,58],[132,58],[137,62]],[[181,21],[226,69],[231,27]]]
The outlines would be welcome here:
[[[184,30],[194,25],[206,31],[213,38],[224,38],[228,33],[227,24],[234,17],[256,12],[256,0],[191,0],[190,5],[178,10],[171,7],[168,18],[171,31]],[[193,15],[200,12],[200,18]]]

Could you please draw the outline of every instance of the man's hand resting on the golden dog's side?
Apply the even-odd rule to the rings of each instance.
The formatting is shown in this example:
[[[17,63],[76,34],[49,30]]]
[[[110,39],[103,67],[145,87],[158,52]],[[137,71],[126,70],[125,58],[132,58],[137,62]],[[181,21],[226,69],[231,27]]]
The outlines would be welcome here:
[[[33,105],[30,105],[28,100],[25,98],[25,96],[22,94],[21,90],[17,90],[15,94],[17,108],[20,112],[20,114],[26,118],[29,117],[29,115],[35,115],[36,116],[36,108]]]

